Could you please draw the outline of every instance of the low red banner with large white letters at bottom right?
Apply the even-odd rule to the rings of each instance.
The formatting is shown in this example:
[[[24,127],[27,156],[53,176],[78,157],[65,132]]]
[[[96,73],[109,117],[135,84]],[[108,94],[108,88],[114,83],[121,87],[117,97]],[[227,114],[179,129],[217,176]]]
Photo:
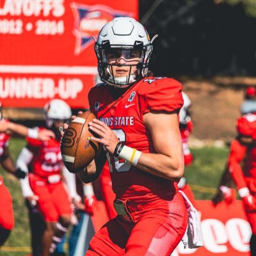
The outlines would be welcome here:
[[[241,201],[213,207],[209,200],[196,200],[201,213],[204,246],[184,249],[180,242],[172,256],[249,256],[249,241],[252,235]]]

